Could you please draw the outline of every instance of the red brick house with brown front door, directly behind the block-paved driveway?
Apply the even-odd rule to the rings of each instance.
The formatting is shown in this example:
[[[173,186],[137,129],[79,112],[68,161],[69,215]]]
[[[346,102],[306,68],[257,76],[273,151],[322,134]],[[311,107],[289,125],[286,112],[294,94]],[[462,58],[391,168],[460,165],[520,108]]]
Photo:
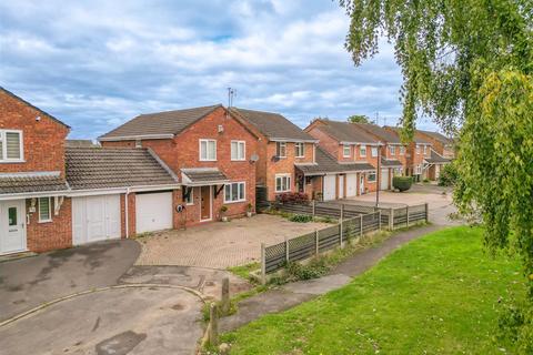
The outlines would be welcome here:
[[[174,204],[184,225],[254,210],[258,140],[221,104],[141,114],[99,138],[104,148],[149,148],[169,166],[183,186]]]

